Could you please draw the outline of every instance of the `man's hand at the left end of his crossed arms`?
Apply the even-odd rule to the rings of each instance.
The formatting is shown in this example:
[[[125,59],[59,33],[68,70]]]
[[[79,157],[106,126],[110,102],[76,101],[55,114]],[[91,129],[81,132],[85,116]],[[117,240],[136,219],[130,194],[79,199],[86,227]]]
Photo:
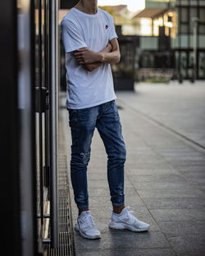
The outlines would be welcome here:
[[[89,50],[88,48],[80,48],[74,53],[75,60],[79,64],[89,64],[100,61],[100,53]]]

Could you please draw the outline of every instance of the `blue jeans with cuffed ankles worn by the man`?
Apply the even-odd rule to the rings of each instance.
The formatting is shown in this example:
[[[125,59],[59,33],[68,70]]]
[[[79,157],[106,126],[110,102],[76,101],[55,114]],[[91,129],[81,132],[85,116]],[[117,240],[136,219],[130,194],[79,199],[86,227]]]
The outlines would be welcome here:
[[[96,107],[68,109],[71,126],[71,183],[75,203],[80,209],[89,208],[87,166],[93,131],[97,127],[107,152],[107,180],[113,206],[125,203],[124,164],[125,143],[115,100]]]

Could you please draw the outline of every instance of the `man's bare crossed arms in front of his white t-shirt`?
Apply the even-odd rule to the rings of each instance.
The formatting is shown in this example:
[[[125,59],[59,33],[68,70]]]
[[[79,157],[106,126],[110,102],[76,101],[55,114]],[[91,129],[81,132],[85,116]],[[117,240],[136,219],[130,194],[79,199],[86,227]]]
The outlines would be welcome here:
[[[89,48],[80,48],[74,52],[74,57],[85,70],[93,71],[98,66],[101,66],[102,63],[114,64],[120,62],[121,53],[115,38],[99,53],[89,50]]]

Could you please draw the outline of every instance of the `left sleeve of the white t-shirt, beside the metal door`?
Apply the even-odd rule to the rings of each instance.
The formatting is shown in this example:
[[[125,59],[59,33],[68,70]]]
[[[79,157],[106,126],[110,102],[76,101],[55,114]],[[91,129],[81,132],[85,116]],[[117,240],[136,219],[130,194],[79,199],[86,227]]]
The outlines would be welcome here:
[[[62,42],[66,53],[87,47],[83,34],[72,21],[62,20]]]

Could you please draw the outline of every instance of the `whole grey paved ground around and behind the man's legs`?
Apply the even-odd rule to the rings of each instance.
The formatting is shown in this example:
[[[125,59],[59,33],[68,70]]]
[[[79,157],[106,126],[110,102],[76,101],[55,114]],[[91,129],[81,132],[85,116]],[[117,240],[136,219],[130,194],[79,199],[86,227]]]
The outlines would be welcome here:
[[[108,228],[112,212],[107,156],[96,130],[88,169],[89,203],[102,239],[85,240],[75,232],[76,255],[205,255],[205,85],[136,85],[134,93],[119,92],[117,97],[127,148],[125,204],[150,223],[150,230]],[[63,126],[69,165],[66,109]],[[71,205],[75,222],[72,189]]]

